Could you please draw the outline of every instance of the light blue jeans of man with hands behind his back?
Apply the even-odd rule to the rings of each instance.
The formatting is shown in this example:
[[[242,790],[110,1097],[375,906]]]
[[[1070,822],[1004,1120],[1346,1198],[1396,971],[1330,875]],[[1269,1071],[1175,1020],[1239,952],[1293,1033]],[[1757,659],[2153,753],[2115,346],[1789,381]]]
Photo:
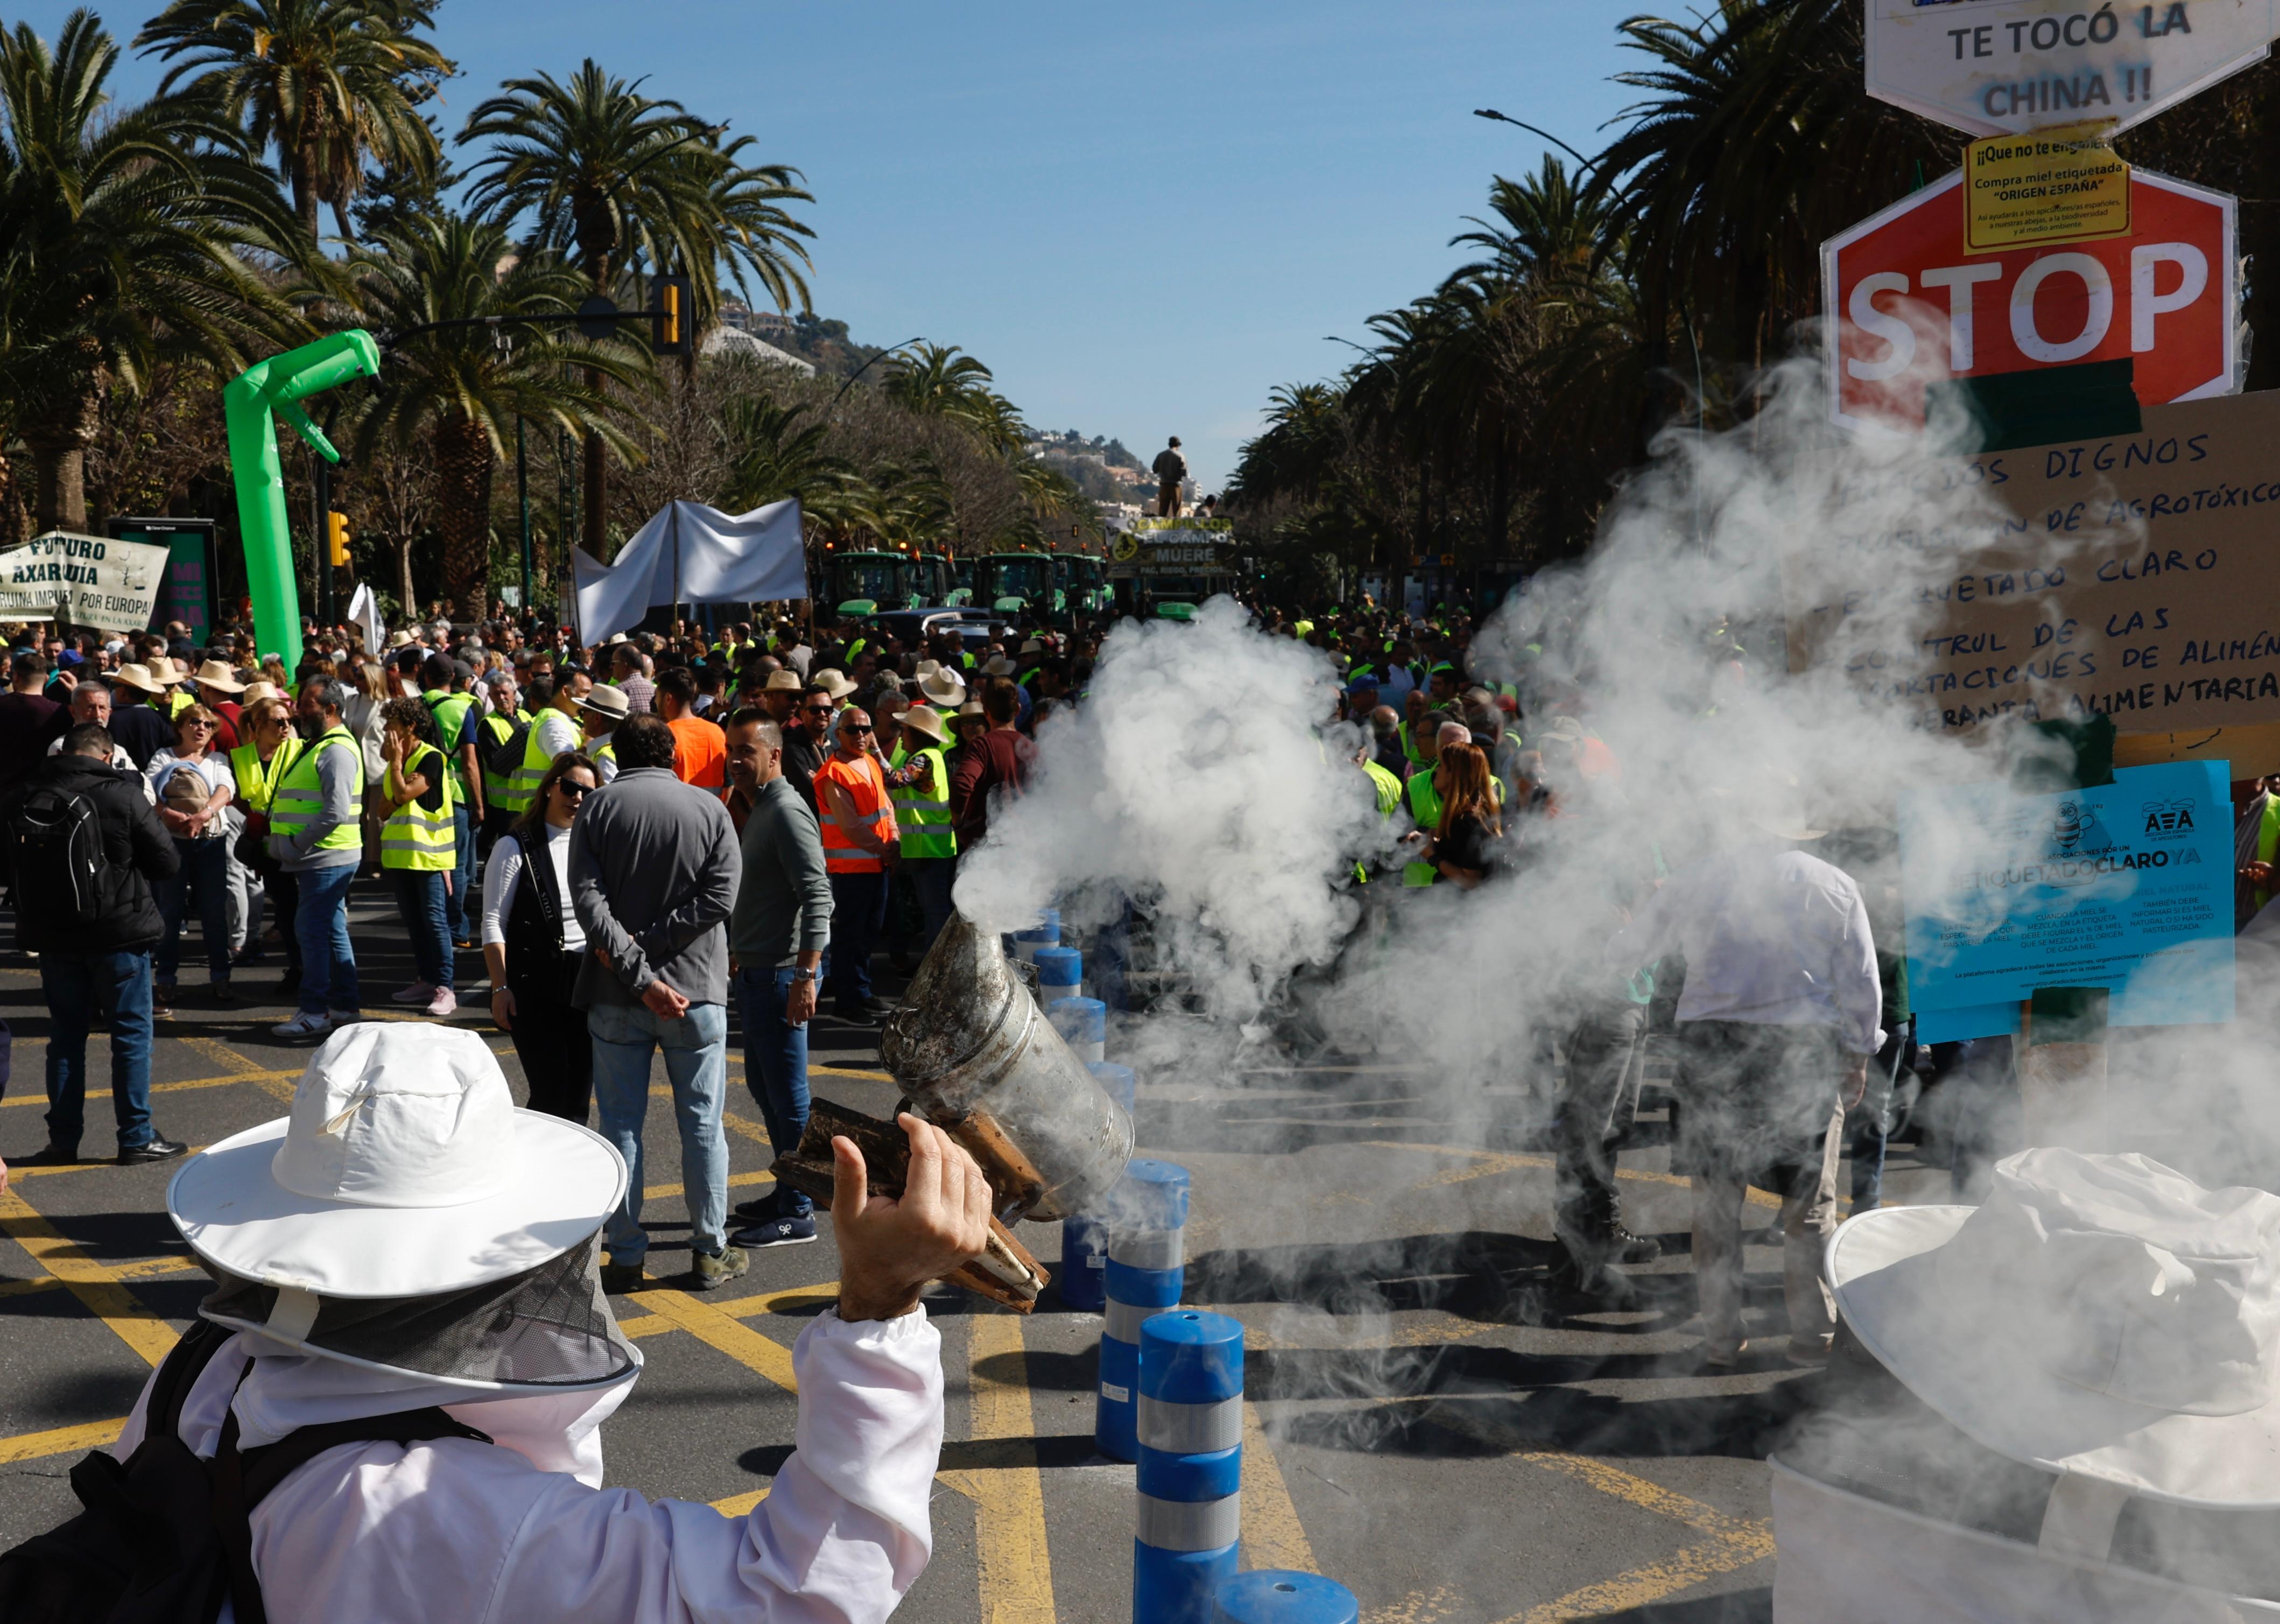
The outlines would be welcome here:
[[[611,1264],[641,1264],[650,1234],[641,1227],[641,1124],[650,1115],[650,1056],[666,1051],[673,1115],[682,1127],[682,1195],[689,1202],[689,1245],[718,1254],[727,1245],[727,1008],[691,1004],[679,1020],[659,1020],[643,1004],[595,1004],[586,1010],[593,1033],[593,1102],[602,1138],[625,1156],[625,1200],[602,1227]]]

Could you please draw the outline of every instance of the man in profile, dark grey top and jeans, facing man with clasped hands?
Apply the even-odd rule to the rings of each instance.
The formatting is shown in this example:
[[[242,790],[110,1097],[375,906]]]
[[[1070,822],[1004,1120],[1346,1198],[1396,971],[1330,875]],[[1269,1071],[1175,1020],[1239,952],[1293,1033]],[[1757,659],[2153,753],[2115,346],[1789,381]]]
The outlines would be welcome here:
[[[784,730],[762,712],[730,716],[727,771],[750,798],[743,819],[743,885],[727,921],[736,1008],[743,1013],[743,1086],[777,1154],[807,1129],[807,1022],[832,940],[832,876],[823,869],[816,814],[784,778]],[[736,1245],[800,1245],[816,1239],[814,1207],[777,1184],[741,1202]]]

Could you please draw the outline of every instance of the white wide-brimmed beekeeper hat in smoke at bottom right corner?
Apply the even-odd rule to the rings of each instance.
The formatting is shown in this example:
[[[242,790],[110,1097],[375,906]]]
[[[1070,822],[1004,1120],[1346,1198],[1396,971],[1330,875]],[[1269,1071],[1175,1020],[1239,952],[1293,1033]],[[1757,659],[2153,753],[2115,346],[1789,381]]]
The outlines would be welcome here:
[[[2280,1195],[2141,1154],[2025,1150],[1981,1207],[1881,1207],[1838,1312],[2011,1460],[2189,1505],[2280,1505]]]

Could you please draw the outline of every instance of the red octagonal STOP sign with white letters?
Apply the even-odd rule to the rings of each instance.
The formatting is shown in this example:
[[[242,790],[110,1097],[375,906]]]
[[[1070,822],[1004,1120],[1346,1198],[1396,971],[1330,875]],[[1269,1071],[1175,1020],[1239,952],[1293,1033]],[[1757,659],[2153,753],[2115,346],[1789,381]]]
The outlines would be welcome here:
[[[2143,406],[2241,388],[2232,198],[2132,171],[2130,235],[1963,251],[1963,171],[1822,244],[1829,406],[1920,427],[1924,385],[2134,360]]]

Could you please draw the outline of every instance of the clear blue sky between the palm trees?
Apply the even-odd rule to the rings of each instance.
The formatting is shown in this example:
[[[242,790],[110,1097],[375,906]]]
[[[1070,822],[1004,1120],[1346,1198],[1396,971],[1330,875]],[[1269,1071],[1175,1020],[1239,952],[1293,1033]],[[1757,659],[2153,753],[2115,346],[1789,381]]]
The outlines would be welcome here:
[[[50,34],[71,7],[18,2]],[[103,7],[132,36],[157,0]],[[445,0],[465,78],[586,55],[807,173],[814,303],[857,338],[955,342],[1049,429],[1147,461],[1179,433],[1215,488],[1275,383],[1341,367],[1325,333],[1425,292],[1491,173],[1598,148],[1630,100],[1630,0],[777,5]],[[123,94],[157,78],[132,62]]]

